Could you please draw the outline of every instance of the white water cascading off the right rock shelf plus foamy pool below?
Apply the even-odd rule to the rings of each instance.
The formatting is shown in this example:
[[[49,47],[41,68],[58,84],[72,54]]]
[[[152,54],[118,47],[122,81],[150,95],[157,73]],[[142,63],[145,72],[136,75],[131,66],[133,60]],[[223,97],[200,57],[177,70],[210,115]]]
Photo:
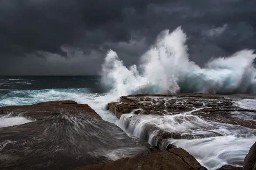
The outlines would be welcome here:
[[[194,111],[197,110],[199,109]],[[168,144],[182,147],[209,170],[216,170],[225,164],[239,165],[243,162],[250,147],[256,141],[255,129],[209,122],[190,113],[165,116],[123,114],[116,124],[128,135],[145,139],[162,150],[165,150]],[[233,114],[240,116],[241,113]],[[252,120],[254,116],[256,114],[243,118]],[[173,137],[178,132],[181,134],[181,139],[162,140],[159,134],[163,131],[172,133]]]

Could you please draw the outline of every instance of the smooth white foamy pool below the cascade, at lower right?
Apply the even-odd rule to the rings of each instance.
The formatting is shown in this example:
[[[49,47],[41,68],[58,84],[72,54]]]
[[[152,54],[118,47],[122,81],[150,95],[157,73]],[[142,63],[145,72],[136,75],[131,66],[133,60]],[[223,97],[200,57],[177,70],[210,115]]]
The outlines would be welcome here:
[[[193,140],[170,140],[192,154],[202,166],[216,170],[226,164],[243,162],[256,137],[210,137]]]

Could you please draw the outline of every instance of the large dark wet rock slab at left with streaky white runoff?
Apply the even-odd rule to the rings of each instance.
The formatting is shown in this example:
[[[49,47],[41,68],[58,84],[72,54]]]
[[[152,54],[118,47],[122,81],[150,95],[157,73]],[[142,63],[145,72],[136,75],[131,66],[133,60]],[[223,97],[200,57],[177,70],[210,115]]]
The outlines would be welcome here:
[[[150,152],[74,101],[1,107],[0,113],[31,120],[0,128],[1,170],[68,170]]]

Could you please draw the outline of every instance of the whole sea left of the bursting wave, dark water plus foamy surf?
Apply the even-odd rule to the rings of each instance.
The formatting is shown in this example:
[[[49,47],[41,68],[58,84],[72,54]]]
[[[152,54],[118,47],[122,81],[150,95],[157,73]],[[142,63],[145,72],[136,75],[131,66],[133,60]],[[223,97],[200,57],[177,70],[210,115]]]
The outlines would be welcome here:
[[[104,120],[115,122],[107,111],[107,95],[101,76],[0,76],[0,106],[31,105],[42,101],[74,100],[88,104]]]

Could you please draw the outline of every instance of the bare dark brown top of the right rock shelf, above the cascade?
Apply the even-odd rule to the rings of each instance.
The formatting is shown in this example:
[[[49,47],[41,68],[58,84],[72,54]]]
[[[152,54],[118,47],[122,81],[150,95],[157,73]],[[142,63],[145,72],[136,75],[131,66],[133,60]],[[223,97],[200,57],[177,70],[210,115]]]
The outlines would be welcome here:
[[[135,114],[180,114],[188,112],[201,116],[208,121],[238,124],[244,127],[256,128],[255,120],[243,120],[232,112],[253,112],[254,110],[239,108],[232,99],[221,95],[207,93],[185,93],[179,95],[141,94],[122,96],[120,102],[108,104],[110,111],[120,118],[122,114],[136,110]],[[198,110],[196,110],[198,109]],[[189,113],[191,112],[191,113]]]

